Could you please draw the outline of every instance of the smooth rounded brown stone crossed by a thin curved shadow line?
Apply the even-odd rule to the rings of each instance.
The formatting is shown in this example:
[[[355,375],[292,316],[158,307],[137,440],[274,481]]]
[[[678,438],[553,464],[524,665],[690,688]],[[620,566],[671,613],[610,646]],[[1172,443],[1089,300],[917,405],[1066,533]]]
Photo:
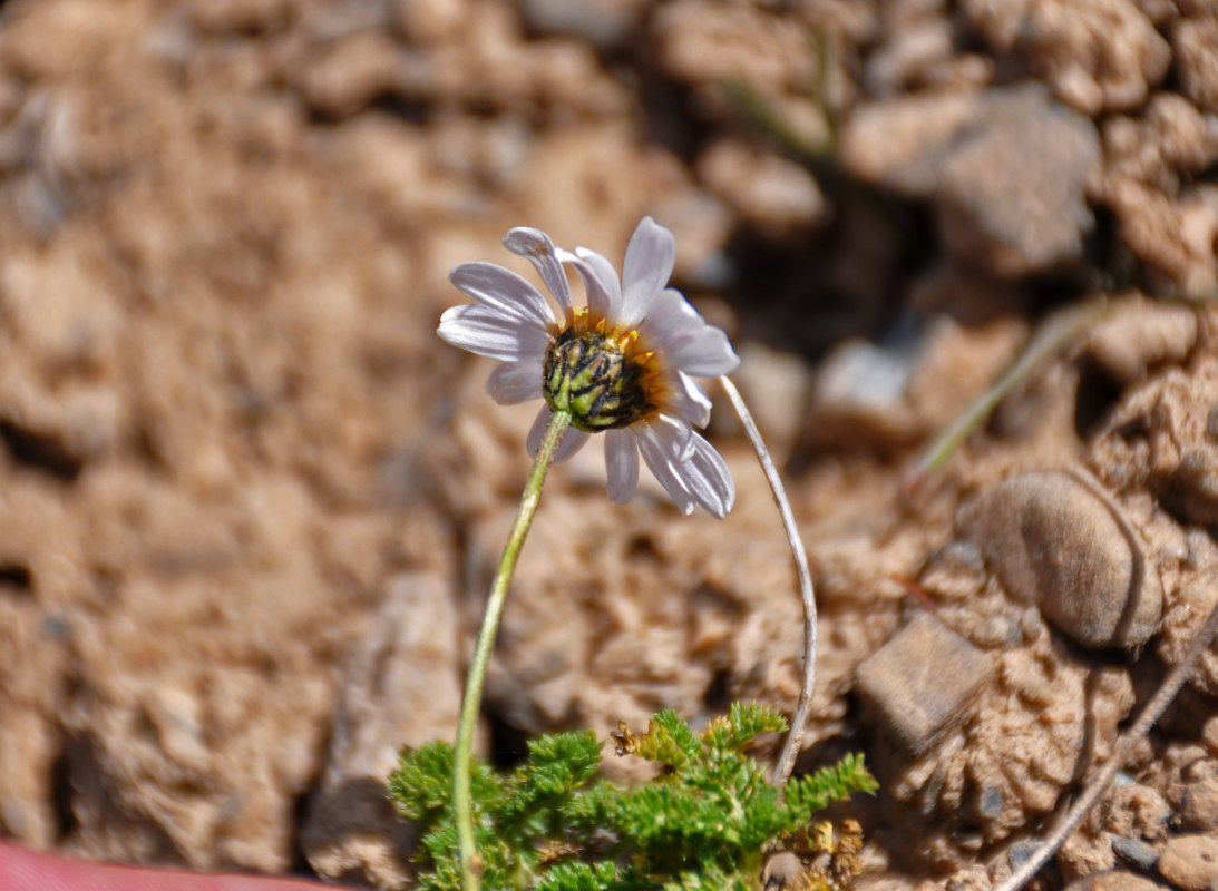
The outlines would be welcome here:
[[[1116,505],[1078,473],[1026,473],[961,511],[1015,598],[1086,646],[1139,646],[1158,631],[1162,582]]]

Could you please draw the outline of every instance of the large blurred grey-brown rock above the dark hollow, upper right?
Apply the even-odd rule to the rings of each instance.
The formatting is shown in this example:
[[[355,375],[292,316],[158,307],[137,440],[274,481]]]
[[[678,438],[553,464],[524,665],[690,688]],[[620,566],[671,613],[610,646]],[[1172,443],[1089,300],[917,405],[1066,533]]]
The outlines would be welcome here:
[[[1099,136],[1040,85],[862,107],[842,152],[855,175],[933,198],[951,253],[999,276],[1077,259],[1091,228]]]

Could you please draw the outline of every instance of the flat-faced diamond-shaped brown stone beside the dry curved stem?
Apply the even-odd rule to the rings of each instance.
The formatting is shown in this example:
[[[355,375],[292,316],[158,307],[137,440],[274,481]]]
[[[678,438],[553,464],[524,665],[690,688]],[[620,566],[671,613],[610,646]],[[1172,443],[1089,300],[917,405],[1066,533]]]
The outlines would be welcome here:
[[[926,612],[859,666],[859,695],[912,755],[957,724],[995,663]]]

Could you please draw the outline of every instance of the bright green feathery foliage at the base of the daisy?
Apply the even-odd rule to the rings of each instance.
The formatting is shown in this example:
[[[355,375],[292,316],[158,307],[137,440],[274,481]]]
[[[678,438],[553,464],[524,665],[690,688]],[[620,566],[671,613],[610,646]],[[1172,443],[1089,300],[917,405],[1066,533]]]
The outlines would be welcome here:
[[[747,751],[759,734],[786,725],[781,715],[753,704],[733,705],[700,734],[671,711],[658,713],[643,734],[620,725],[613,734],[619,755],[664,766],[655,780],[638,786],[596,780],[600,744],[591,730],[533,740],[525,762],[508,775],[479,764],[474,814],[482,886],[748,891],[758,885],[764,851],[788,842],[811,844],[836,858],[832,874],[809,876],[809,886],[838,891],[857,872],[861,835],[851,829],[838,851],[832,826],[814,826],[812,817],[877,785],[862,757],[848,756],[780,794]],[[452,760],[449,746],[430,742],[404,751],[390,778],[398,809],[419,823],[423,891],[460,889]]]

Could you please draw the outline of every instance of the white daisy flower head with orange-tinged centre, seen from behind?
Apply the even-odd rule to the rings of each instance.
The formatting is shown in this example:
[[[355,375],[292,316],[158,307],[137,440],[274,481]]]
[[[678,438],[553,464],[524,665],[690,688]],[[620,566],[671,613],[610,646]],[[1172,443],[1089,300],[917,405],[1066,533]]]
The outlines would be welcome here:
[[[710,420],[695,380],[739,365],[727,335],[709,325],[667,285],[676,242],[644,217],[626,248],[622,278],[594,251],[555,248],[544,232],[516,228],[504,247],[526,257],[558,303],[493,263],[463,263],[449,280],[475,304],[453,307],[437,334],[504,363],[487,392],[501,405],[544,399],[529,433],[536,455],[554,411],[572,416],[554,455],[574,455],[592,433],[605,435],[609,498],[624,504],[638,482],[638,454],[683,514],[702,505],[723,517],[736,500],[727,464],[694,427]],[[575,307],[563,264],[580,273],[587,306]]]

